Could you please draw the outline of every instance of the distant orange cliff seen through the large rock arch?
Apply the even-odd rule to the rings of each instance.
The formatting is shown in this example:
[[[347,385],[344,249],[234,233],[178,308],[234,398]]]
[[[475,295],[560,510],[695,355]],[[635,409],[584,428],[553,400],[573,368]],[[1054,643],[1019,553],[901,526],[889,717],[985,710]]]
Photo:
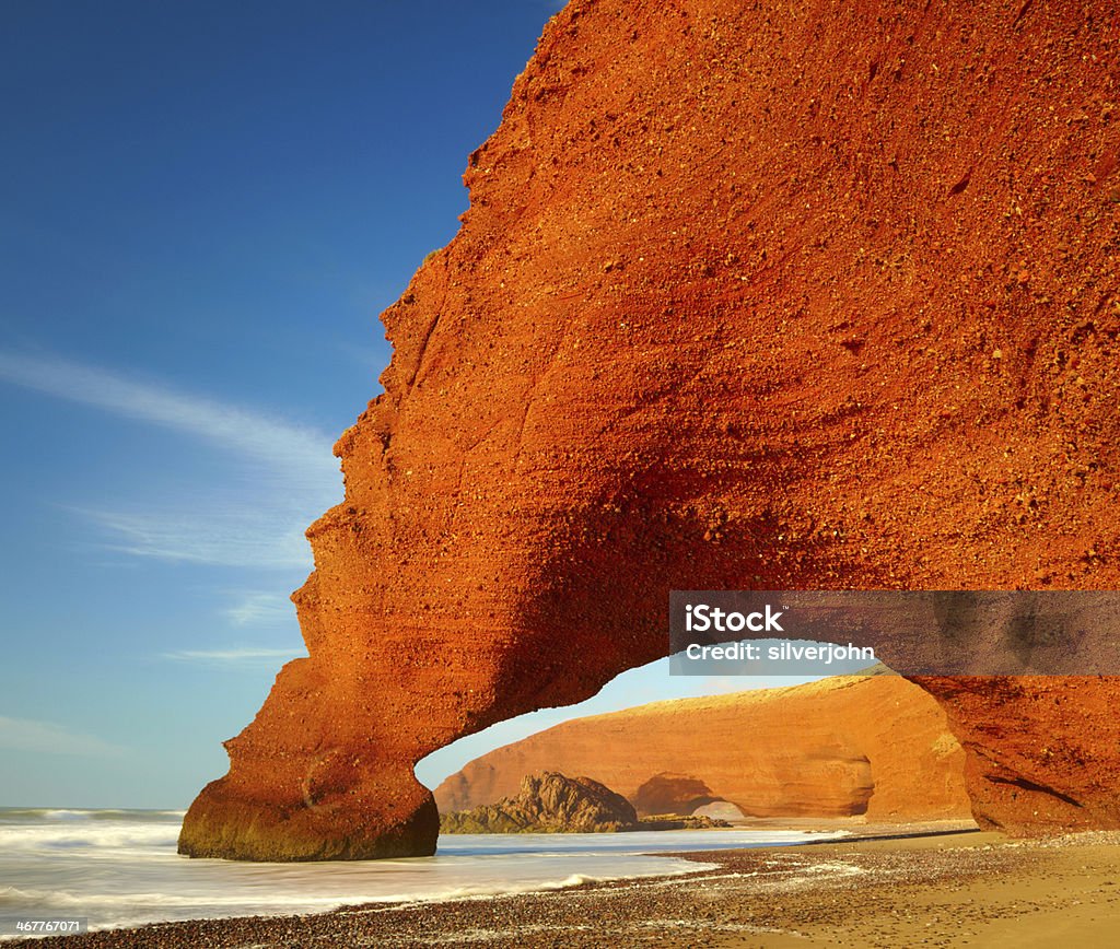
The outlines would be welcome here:
[[[657,702],[556,725],[476,758],[436,789],[440,812],[508,795],[544,767],[588,774],[640,815],[730,801],[755,817],[970,816],[945,714],[897,676]]]

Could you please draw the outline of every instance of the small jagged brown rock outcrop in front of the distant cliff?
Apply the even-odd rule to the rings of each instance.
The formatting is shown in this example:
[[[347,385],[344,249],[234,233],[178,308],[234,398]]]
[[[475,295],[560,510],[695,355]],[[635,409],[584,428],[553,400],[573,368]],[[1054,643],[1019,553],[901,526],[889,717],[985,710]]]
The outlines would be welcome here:
[[[637,829],[622,795],[590,778],[553,771],[525,774],[516,795],[470,810],[442,814],[445,834],[600,834]]]

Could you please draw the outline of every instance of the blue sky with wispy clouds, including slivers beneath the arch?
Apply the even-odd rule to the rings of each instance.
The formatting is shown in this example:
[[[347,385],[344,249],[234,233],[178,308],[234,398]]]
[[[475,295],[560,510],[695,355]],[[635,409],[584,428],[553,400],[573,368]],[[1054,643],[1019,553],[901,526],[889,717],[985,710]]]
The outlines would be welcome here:
[[[557,7],[0,9],[0,806],[183,807],[225,771],[304,651],[287,598],[377,313]],[[591,711],[749,684],[657,665]]]

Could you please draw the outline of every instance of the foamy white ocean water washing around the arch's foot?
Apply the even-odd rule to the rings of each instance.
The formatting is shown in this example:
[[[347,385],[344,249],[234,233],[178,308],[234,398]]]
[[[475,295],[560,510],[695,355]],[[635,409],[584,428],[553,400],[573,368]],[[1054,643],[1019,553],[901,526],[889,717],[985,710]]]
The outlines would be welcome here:
[[[651,853],[838,836],[739,829],[446,835],[432,857],[259,864],[180,856],[183,814],[0,808],[0,919],[85,917],[91,929],[106,929],[484,898],[703,867]]]

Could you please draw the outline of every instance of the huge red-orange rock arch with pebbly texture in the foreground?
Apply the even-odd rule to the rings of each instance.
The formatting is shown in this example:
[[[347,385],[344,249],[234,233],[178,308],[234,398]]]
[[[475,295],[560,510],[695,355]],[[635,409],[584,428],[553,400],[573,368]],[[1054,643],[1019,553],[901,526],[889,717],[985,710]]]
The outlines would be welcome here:
[[[429,853],[412,764],[659,656],[671,589],[1120,585],[1118,34],[1075,0],[573,0],[383,316],[309,658],[181,851]],[[1112,722],[1032,777],[1116,682],[931,687],[990,819],[1120,820]]]

